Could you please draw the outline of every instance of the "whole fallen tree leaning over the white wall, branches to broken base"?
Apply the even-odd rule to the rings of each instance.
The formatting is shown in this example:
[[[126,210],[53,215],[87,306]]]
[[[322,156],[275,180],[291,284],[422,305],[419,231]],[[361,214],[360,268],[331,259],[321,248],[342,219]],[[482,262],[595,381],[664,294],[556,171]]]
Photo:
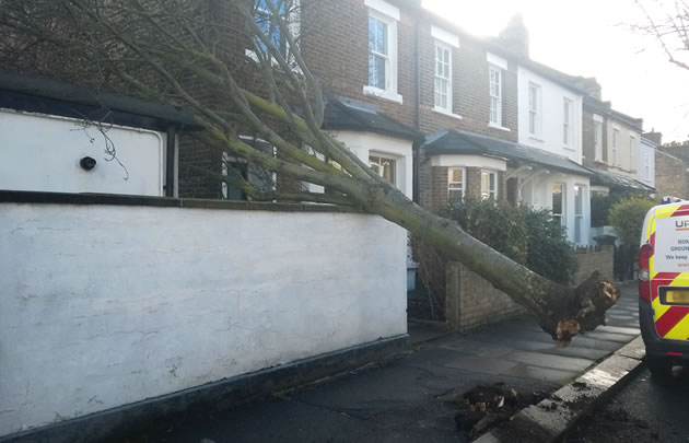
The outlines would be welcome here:
[[[205,128],[196,136],[205,147],[325,191],[266,189],[233,167],[226,175],[199,174],[254,200],[329,203],[378,214],[489,280],[561,345],[604,324],[619,291],[600,275],[574,288],[530,271],[471,237],[458,223],[409,200],[322,130],[323,91],[299,51],[289,20],[292,1],[0,0],[0,26],[10,35],[0,49],[3,57],[38,60],[43,71],[61,71],[91,86],[106,84],[188,107]],[[266,22],[256,20],[255,7]],[[245,54],[242,45],[252,51]],[[197,95],[199,90],[212,90],[213,101]],[[246,128],[275,152],[242,138]]]

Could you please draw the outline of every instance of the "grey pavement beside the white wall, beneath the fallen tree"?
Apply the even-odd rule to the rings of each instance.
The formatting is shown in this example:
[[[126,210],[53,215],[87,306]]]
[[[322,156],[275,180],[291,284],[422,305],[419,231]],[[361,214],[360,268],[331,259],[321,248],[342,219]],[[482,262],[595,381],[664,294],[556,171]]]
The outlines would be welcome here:
[[[495,383],[521,394],[550,394],[635,339],[635,282],[621,290],[607,326],[567,348],[558,348],[528,316],[462,335],[412,322],[411,350],[392,360],[220,413],[172,417],[117,441],[467,441],[455,424],[457,405],[447,398]]]

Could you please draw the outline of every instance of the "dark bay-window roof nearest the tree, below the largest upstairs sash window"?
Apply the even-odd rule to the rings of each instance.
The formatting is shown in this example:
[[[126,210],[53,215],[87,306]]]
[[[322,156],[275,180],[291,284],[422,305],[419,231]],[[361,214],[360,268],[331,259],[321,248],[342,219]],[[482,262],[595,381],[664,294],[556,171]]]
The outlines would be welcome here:
[[[328,100],[324,129],[351,129],[409,140],[423,140],[423,133],[381,113],[374,105],[350,98]]]

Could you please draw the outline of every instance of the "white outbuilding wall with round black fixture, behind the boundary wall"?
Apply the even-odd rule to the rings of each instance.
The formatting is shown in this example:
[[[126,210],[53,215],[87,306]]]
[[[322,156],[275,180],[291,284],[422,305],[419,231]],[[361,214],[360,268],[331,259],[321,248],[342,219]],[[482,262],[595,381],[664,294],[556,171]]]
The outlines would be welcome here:
[[[165,133],[0,109],[0,189],[162,196]],[[106,161],[106,142],[117,159]],[[91,156],[86,172],[79,161]]]

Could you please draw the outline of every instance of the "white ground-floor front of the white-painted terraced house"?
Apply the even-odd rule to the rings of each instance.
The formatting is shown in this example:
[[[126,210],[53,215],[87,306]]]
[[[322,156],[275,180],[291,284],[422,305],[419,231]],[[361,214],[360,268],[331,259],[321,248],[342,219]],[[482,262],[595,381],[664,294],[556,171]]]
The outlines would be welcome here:
[[[532,173],[529,173],[532,174]],[[528,174],[522,176],[524,178]],[[591,226],[591,184],[588,177],[572,174],[550,172],[540,174],[527,180],[522,188],[523,202],[535,209],[552,209],[552,185],[561,183],[564,185],[564,225],[570,242],[575,243],[574,235],[574,186],[585,186],[583,198],[583,220],[581,231],[581,242],[579,245],[589,243]]]

